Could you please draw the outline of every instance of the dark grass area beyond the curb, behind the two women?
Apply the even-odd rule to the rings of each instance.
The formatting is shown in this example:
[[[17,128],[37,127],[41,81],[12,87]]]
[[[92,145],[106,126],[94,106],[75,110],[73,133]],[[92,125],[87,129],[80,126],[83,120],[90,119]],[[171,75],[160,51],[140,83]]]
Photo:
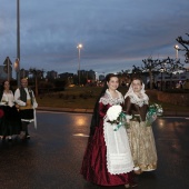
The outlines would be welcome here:
[[[101,87],[66,88],[66,90],[61,92],[40,94],[37,97],[37,101],[40,107],[93,109],[101,89]],[[125,94],[127,92],[127,88],[121,87],[119,88],[119,91]],[[163,110],[188,111],[188,107],[158,101],[156,90],[147,90],[147,93],[150,98],[150,102],[160,103]]]

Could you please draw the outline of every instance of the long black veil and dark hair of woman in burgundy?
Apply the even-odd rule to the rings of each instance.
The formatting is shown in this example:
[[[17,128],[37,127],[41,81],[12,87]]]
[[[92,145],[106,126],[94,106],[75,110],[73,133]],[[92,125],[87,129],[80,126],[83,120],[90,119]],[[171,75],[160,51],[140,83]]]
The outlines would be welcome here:
[[[99,120],[100,120],[100,117],[99,117],[99,100],[100,100],[101,97],[105,96],[105,92],[108,89],[107,82],[109,82],[110,79],[113,78],[113,77],[118,78],[118,76],[113,74],[113,73],[109,73],[109,74],[106,76],[103,88],[102,88],[99,97],[97,98],[97,101],[96,101],[96,105],[94,105],[94,108],[93,108],[93,115],[92,115],[91,123],[90,123],[90,136],[93,136],[96,127],[99,126]]]

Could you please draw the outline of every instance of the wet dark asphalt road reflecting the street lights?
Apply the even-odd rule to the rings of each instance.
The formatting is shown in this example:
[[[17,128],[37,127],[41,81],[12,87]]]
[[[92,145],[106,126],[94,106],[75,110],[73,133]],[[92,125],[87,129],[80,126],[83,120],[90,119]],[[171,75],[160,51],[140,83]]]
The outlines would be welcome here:
[[[38,111],[28,142],[0,141],[0,189],[102,189],[80,176],[91,115]],[[138,177],[140,189],[189,188],[189,118],[153,125],[158,169]],[[123,186],[111,187],[123,189]]]

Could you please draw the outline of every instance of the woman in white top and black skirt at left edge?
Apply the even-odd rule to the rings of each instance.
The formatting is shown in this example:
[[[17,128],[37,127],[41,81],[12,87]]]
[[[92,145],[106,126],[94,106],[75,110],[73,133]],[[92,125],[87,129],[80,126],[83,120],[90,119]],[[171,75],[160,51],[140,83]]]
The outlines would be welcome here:
[[[3,112],[0,121],[0,136],[4,140],[12,140],[12,136],[19,135],[21,131],[21,119],[16,108],[13,92],[10,90],[9,81],[2,82],[0,91],[0,108]]]

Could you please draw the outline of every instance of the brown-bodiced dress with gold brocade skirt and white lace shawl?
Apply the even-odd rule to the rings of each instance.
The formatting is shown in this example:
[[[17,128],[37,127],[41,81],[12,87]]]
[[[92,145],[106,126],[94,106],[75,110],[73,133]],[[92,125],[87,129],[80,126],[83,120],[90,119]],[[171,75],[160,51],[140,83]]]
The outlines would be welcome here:
[[[123,110],[132,116],[127,132],[135,167],[139,167],[141,171],[150,171],[157,168],[157,150],[152,128],[146,123],[149,98],[145,93],[145,84],[140,93],[139,98],[130,87],[125,96]]]

